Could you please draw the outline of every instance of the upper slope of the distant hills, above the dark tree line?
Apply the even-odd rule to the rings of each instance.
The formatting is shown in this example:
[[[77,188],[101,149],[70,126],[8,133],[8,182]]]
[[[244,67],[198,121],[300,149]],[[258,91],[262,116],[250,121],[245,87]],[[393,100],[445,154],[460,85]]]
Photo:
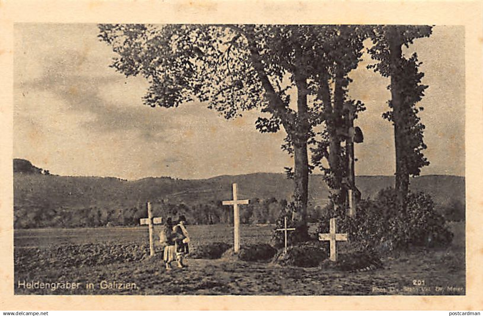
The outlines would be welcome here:
[[[358,176],[357,187],[363,198],[374,197],[393,185],[392,176]],[[127,205],[145,201],[173,204],[202,204],[231,199],[231,184],[237,183],[241,199],[290,200],[293,184],[281,173],[253,173],[218,176],[203,180],[169,177],[126,181],[117,178],[55,176],[39,173],[14,173],[14,204],[34,202],[52,208]],[[328,189],[321,175],[311,175],[309,204],[327,203]],[[438,204],[465,201],[465,179],[459,176],[426,175],[411,179],[412,191],[430,194]]]

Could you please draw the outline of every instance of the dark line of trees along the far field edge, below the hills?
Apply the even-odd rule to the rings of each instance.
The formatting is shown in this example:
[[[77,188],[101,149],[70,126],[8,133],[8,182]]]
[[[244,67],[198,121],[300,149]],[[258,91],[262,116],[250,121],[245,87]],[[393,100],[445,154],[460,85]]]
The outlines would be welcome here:
[[[242,224],[273,224],[284,211],[287,201],[275,198],[251,200],[250,204],[240,209]],[[171,217],[176,220],[185,215],[190,225],[233,224],[233,207],[222,205],[221,201],[187,205],[171,204],[163,201],[152,202],[153,216],[163,220]],[[322,215],[323,208],[309,207],[309,220],[316,222]],[[120,207],[70,207],[48,208],[23,206],[14,207],[14,228],[74,228],[105,226],[137,226],[139,220],[147,217],[146,204],[139,203]]]

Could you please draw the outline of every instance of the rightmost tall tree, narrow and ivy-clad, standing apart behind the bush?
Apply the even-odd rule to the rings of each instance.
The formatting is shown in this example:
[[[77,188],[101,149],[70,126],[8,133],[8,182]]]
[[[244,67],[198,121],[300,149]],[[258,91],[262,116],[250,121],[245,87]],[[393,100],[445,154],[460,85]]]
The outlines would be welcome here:
[[[404,202],[409,192],[409,177],[416,176],[421,168],[429,165],[423,154],[426,144],[423,141],[425,126],[418,116],[421,101],[428,86],[421,84],[424,76],[419,72],[417,54],[407,58],[402,47],[409,47],[414,39],[429,37],[430,26],[380,26],[371,35],[374,45],[369,49],[372,58],[378,62],[369,65],[375,72],[391,78],[390,110],[383,117],[393,123],[396,147],[396,182],[399,201]],[[403,205],[404,206],[404,205]]]

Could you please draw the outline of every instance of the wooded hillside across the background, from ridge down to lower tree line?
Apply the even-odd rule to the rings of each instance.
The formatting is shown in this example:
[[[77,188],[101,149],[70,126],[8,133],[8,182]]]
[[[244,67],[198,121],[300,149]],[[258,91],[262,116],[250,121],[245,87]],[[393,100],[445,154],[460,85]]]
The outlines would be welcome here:
[[[252,202],[243,208],[243,223],[273,223],[291,200],[293,183],[281,173],[253,173],[217,176],[201,180],[170,177],[126,181],[112,177],[59,176],[43,172],[28,160],[18,159],[14,169],[14,226],[95,227],[138,225],[146,216],[146,201],[156,216],[188,216],[193,223],[229,223],[230,208],[220,201],[231,200],[232,183],[239,187],[239,199]],[[391,176],[359,176],[356,183],[363,198],[392,186]],[[321,175],[309,183],[310,220],[317,221],[327,204],[328,189]],[[464,218],[463,177],[429,175],[412,179],[413,191],[425,191],[441,213]],[[448,213],[449,212],[449,213]]]

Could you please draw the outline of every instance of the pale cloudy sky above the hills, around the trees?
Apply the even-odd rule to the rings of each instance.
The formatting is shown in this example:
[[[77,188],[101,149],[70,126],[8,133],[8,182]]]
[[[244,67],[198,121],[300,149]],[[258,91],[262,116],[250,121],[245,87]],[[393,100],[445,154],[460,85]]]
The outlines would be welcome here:
[[[14,158],[60,175],[124,179],[183,179],[222,174],[284,172],[293,158],[280,146],[285,134],[261,134],[256,111],[225,120],[206,104],[178,108],[142,104],[142,77],[115,72],[112,49],[95,24],[16,24],[14,29]],[[436,26],[416,51],[429,86],[419,103],[426,126],[422,174],[465,174],[464,28]],[[356,175],[395,172],[394,132],[381,114],[390,92],[387,78],[366,68],[364,54],[350,73],[350,96],[367,110],[356,125]]]

